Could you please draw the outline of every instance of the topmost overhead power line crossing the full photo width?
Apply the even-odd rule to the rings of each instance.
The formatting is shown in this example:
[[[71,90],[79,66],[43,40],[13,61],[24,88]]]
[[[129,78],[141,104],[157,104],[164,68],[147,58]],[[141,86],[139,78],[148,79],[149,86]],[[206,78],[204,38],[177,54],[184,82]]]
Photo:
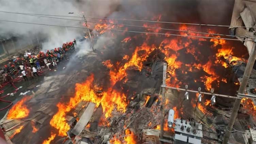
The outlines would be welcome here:
[[[12,13],[12,14],[29,14],[29,15],[41,15],[41,16],[58,16],[58,17],[79,17],[82,16],[64,16],[64,15],[48,15],[48,14],[33,14],[33,13],[18,13],[18,12],[7,12],[0,11],[3,13]],[[108,19],[108,20],[122,20],[122,21],[142,21],[142,22],[155,22],[155,23],[171,23],[171,24],[185,24],[185,25],[195,25],[195,26],[211,26],[211,27],[239,27],[239,28],[256,28],[256,27],[244,27],[244,26],[227,26],[227,25],[211,25],[203,23],[186,23],[186,22],[168,22],[168,21],[154,21],[154,20],[139,20],[139,19],[114,19],[114,18],[100,18],[100,17],[85,17],[91,19]]]

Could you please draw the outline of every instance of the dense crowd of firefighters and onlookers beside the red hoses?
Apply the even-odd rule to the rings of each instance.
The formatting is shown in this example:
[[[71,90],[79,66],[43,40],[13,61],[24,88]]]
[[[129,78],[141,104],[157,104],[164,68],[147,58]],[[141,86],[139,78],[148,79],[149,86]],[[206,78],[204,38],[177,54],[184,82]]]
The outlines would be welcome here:
[[[75,51],[76,39],[71,42],[66,42],[62,47],[47,50],[39,53],[26,52],[22,57],[16,57],[13,62],[9,62],[0,69],[0,74],[3,76],[3,83],[13,83],[13,79],[18,77],[28,81],[28,76],[32,78],[39,76],[43,72],[43,68],[48,70],[54,69],[57,63],[63,59],[67,60],[67,54]],[[46,70],[47,70],[46,69]],[[1,85],[0,85],[1,86]]]

